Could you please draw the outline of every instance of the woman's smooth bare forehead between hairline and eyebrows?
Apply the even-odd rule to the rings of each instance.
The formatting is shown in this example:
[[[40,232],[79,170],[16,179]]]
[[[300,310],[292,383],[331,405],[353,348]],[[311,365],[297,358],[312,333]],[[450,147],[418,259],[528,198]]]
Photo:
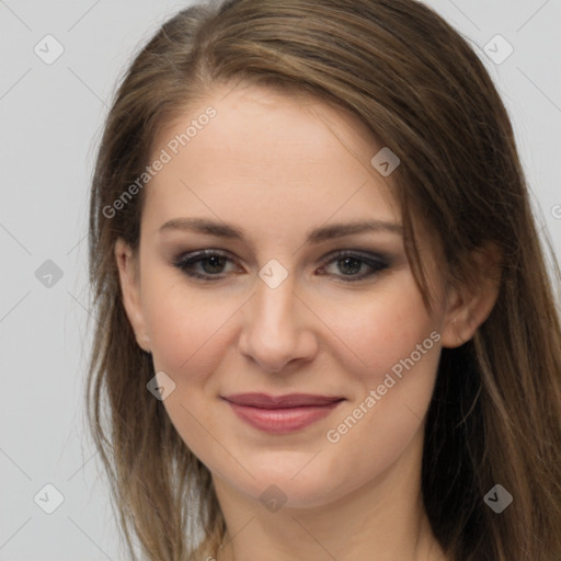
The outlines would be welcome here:
[[[147,188],[147,219],[396,219],[391,179],[370,164],[380,148],[350,111],[264,87],[218,88],[158,135],[150,161],[168,156]]]

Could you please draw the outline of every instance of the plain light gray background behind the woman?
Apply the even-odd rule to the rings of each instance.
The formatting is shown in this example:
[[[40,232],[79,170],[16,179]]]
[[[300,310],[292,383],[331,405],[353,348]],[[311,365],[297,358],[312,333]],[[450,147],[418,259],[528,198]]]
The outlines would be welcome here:
[[[117,77],[188,3],[0,0],[0,560],[123,559],[82,405],[89,180]],[[485,60],[516,129],[541,233],[561,254],[561,0],[426,3]],[[48,34],[65,49],[50,65],[34,51],[56,53],[45,47]],[[499,65],[482,50],[496,34],[514,47]],[[495,59],[507,53],[496,41],[490,47]],[[59,279],[46,276],[47,260]],[[51,514],[34,501],[41,491],[37,502],[56,506],[47,483],[64,496]]]

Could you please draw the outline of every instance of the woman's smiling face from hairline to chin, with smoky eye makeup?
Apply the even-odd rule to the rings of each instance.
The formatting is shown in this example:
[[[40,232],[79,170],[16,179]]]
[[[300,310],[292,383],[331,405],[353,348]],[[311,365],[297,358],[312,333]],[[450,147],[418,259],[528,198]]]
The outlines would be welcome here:
[[[256,87],[218,90],[154,145],[125,305],[171,421],[232,492],[312,506],[419,469],[451,311],[424,238],[423,305],[382,148],[346,113]]]

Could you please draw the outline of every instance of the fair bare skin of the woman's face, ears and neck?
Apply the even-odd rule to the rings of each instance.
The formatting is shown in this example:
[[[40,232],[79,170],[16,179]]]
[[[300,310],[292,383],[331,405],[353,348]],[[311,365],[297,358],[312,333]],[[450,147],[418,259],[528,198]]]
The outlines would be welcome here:
[[[448,285],[423,234],[436,295],[428,311],[401,236],[380,230],[306,243],[309,229],[335,222],[400,224],[391,175],[369,164],[382,145],[353,115],[323,102],[254,85],[217,88],[162,130],[154,156],[208,105],[217,116],[146,187],[139,254],[119,240],[115,256],[138,344],[175,383],[165,410],[213,474],[228,527],[218,560],[446,559],[421,496],[425,414],[440,348],[473,335],[496,286]],[[232,224],[245,239],[159,231],[180,217]],[[231,259],[193,265],[221,279],[190,278],[174,267],[178,256],[202,249]],[[336,250],[382,253],[390,263],[345,282],[350,267],[329,256]],[[273,259],[288,275],[275,288],[259,276]],[[484,255],[481,262],[489,268]],[[370,268],[353,271],[357,277]],[[439,341],[329,442],[328,431],[432,332]],[[221,399],[249,391],[345,401],[304,430],[276,435],[245,424]],[[275,512],[260,501],[272,484],[286,500]]]

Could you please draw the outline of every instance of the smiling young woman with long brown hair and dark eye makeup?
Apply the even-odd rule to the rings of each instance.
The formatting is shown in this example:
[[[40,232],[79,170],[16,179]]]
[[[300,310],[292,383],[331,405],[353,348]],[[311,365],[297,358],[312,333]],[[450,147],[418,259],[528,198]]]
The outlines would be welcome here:
[[[561,559],[559,312],[506,111],[425,5],[165,22],[107,117],[90,259],[130,550]]]

